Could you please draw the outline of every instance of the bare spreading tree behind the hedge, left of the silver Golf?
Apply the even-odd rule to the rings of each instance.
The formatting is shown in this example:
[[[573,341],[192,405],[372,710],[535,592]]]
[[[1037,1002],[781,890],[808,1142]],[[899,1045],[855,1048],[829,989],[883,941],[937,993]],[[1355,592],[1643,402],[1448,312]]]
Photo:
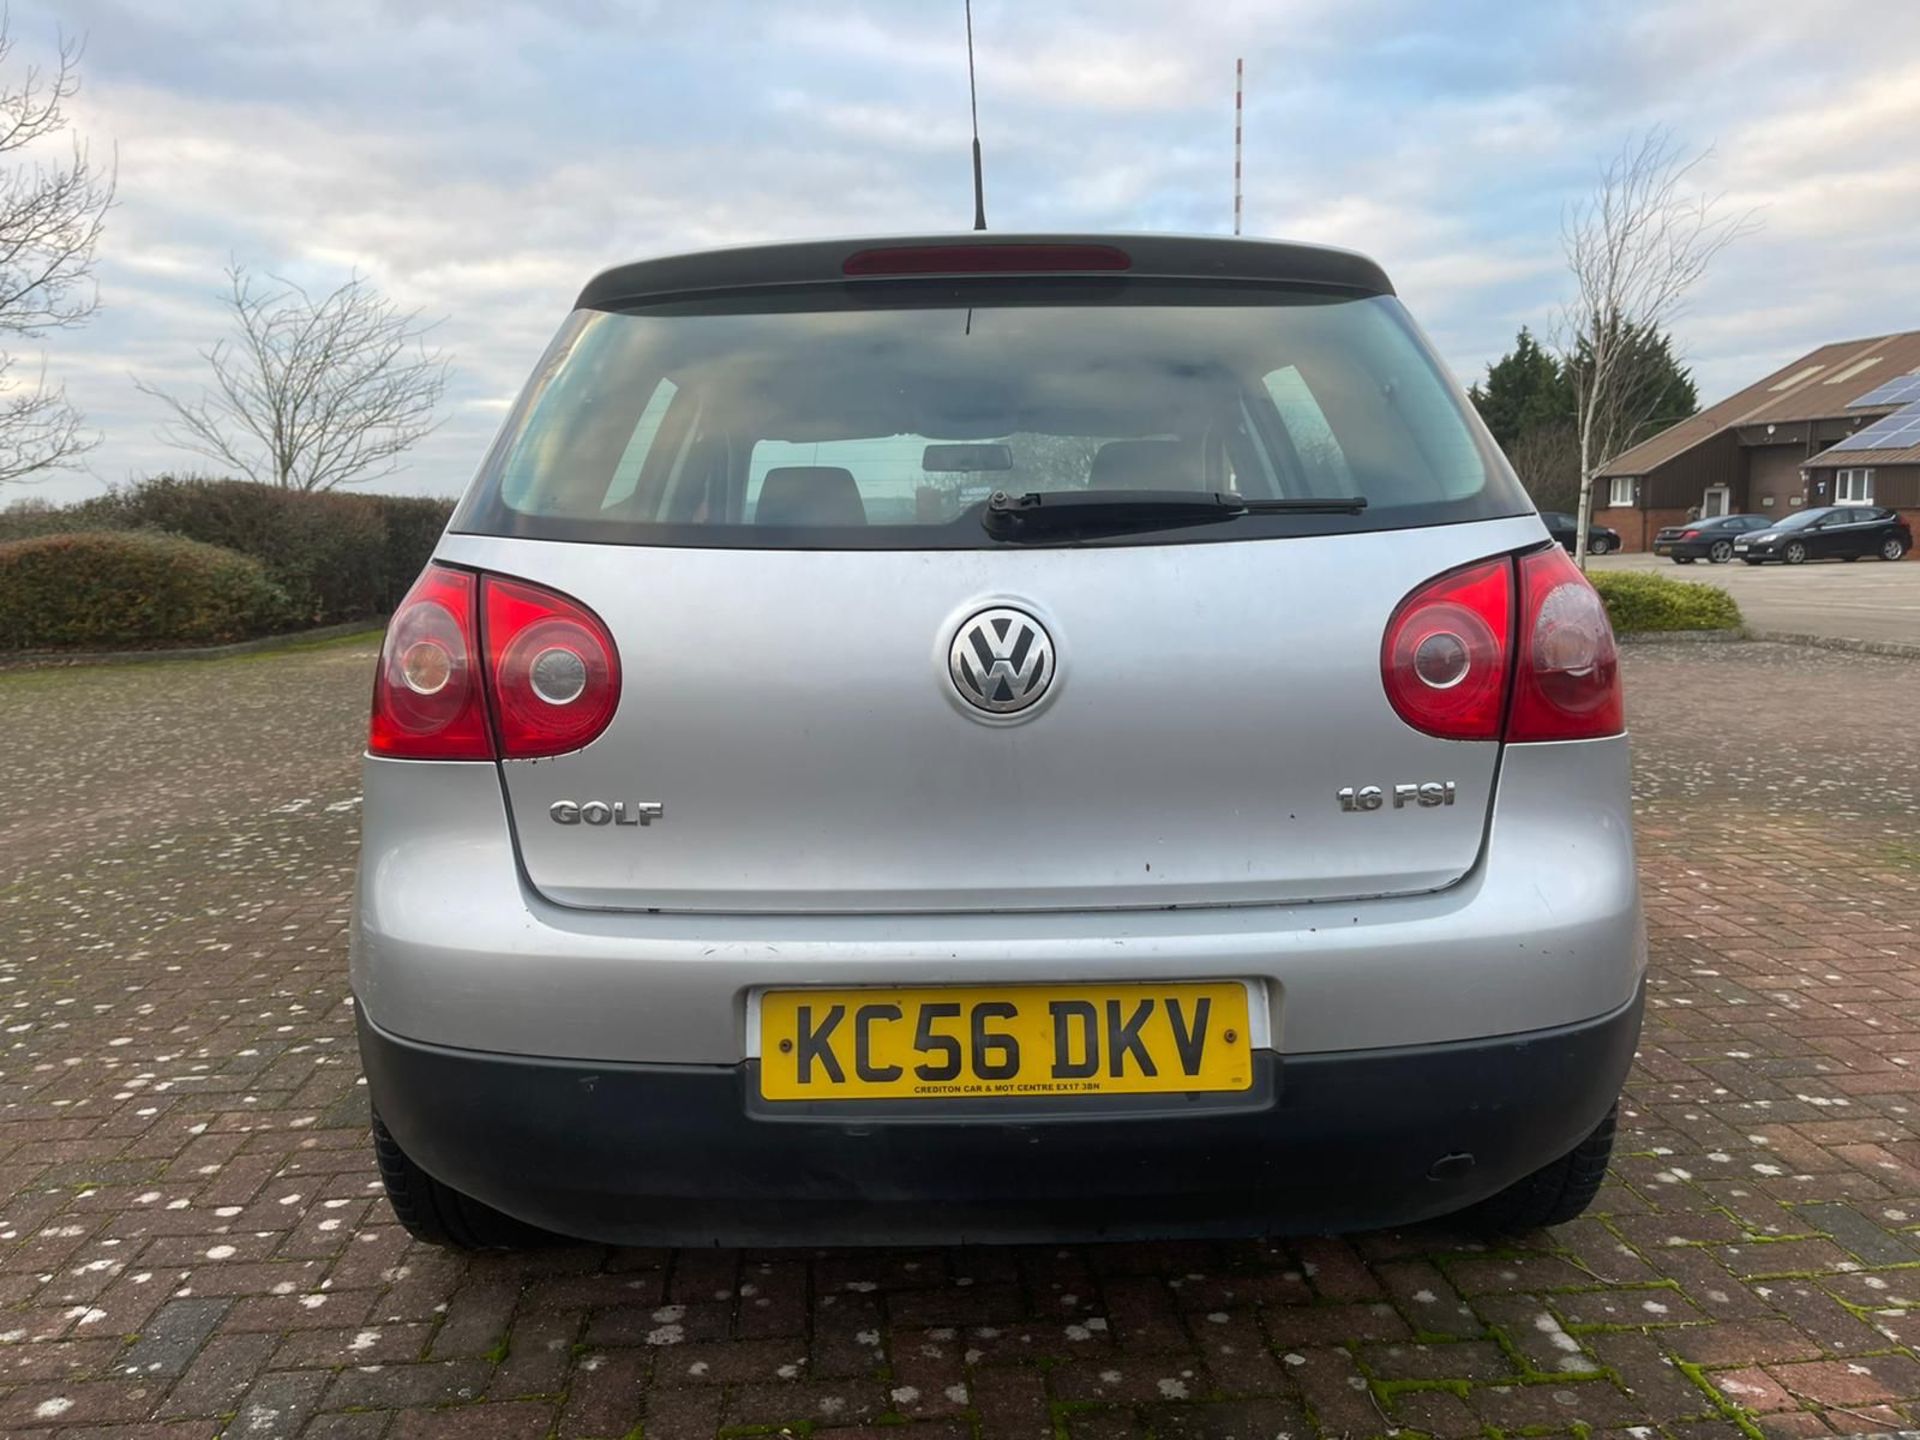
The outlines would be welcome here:
[[[390,474],[440,424],[449,363],[424,344],[432,326],[359,275],[317,300],[269,278],[227,271],[238,334],[200,351],[213,382],[198,397],[134,380],[173,411],[159,438],[286,490]]]

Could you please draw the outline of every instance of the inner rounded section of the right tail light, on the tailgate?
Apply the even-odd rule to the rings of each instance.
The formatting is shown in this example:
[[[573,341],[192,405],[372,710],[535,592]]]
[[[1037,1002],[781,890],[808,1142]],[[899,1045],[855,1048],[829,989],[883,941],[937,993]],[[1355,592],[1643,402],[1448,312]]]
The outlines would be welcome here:
[[[1482,561],[1430,580],[1394,611],[1380,645],[1386,699],[1442,739],[1500,739],[1507,707],[1513,564]]]

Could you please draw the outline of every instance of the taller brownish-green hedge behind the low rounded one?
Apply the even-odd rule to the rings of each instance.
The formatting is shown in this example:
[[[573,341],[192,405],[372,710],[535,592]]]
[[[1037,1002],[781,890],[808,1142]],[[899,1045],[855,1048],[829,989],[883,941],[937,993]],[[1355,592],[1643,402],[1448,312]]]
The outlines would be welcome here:
[[[0,540],[148,530],[238,551],[286,591],[286,628],[390,612],[434,551],[453,501],[307,493],[248,480],[156,476],[79,505],[0,511]]]

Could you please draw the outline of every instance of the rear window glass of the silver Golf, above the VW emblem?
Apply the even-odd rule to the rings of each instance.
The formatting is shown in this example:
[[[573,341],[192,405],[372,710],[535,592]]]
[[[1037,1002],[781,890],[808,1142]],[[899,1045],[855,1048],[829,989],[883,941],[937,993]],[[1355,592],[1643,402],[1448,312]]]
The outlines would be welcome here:
[[[826,294],[820,294],[826,290]],[[1275,286],[828,286],[580,311],[455,530],[993,547],[995,492],[1363,495],[1096,543],[1524,515],[1400,303]]]

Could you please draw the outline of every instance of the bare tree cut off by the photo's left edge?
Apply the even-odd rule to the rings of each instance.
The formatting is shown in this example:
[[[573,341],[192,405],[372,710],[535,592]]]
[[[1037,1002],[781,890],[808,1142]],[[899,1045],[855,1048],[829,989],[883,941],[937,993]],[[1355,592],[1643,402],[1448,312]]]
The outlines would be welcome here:
[[[0,67],[12,56],[0,13]],[[79,42],[61,36],[52,69],[29,65],[0,86],[0,336],[40,340],[84,324],[98,305],[94,250],[113,167],[98,167],[79,138],[63,159],[50,157],[81,88],[79,61]],[[100,444],[67,392],[48,384],[44,363],[31,380],[15,371],[17,359],[0,351],[0,484],[67,468]]]

